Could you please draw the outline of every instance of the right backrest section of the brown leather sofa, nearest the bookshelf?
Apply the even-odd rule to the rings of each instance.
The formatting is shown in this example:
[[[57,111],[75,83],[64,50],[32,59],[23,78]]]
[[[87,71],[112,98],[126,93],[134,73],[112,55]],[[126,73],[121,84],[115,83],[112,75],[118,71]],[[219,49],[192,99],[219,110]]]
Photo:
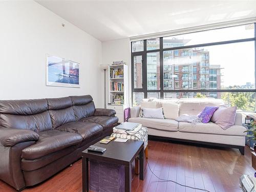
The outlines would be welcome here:
[[[95,112],[95,105],[91,95],[70,96],[70,98],[72,99],[73,109],[77,121],[84,117],[93,116]]]

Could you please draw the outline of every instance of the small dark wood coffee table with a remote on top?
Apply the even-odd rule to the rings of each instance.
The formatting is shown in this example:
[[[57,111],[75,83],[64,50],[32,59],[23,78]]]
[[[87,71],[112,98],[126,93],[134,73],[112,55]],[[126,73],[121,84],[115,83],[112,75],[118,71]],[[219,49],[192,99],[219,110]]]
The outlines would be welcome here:
[[[112,140],[108,144],[95,143],[94,145],[106,148],[105,153],[82,152],[82,191],[89,191],[89,161],[96,160],[104,163],[124,166],[125,192],[132,188],[132,162],[139,154],[139,179],[144,180],[144,142],[129,139],[125,143]],[[91,171],[91,170],[90,170]]]

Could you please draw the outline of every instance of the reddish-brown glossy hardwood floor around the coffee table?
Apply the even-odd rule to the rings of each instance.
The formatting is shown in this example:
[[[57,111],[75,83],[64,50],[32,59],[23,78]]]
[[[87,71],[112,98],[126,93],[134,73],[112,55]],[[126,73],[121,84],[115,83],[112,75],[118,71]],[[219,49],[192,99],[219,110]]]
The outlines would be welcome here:
[[[209,191],[242,191],[239,188],[239,178],[242,174],[253,175],[250,149],[246,147],[245,156],[239,150],[230,148],[201,147],[182,143],[160,141],[148,142],[148,163],[158,177],[177,181],[183,185],[204,188]],[[43,191],[82,191],[81,160],[72,167],[35,187],[24,190],[33,192]],[[0,191],[16,191],[0,181]],[[135,175],[132,191],[201,191],[177,185],[173,182],[163,182],[149,170],[145,170],[145,179],[140,181]]]

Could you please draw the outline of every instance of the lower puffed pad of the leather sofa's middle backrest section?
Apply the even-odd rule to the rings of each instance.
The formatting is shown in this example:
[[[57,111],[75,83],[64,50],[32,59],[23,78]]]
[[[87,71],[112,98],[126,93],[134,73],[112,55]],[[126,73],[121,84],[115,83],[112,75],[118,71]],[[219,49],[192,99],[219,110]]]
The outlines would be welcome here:
[[[58,126],[61,126],[62,124],[76,121],[72,106],[61,110],[49,110],[49,113],[54,129],[56,129]]]

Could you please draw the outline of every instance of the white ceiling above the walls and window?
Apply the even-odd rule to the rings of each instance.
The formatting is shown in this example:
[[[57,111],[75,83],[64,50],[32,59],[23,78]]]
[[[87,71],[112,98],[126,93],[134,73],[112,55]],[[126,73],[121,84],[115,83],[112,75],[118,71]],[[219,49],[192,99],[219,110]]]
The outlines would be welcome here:
[[[256,1],[36,1],[101,41],[256,16]]]

